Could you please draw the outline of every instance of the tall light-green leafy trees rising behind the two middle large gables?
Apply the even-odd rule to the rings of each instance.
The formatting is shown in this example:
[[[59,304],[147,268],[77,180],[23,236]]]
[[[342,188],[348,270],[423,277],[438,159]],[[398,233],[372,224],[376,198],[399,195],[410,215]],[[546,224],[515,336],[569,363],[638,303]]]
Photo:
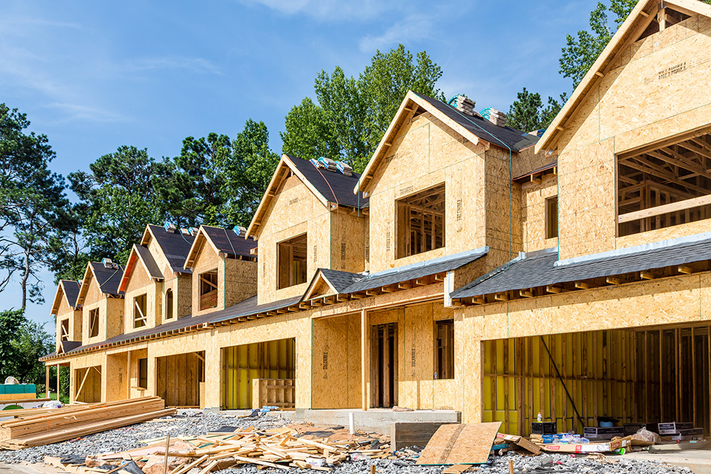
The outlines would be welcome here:
[[[339,66],[316,76],[318,103],[306,98],[289,111],[282,133],[284,153],[342,159],[356,172],[365,168],[408,90],[444,100],[435,88],[442,69],[425,51],[413,56],[399,45],[377,51],[358,78]]]

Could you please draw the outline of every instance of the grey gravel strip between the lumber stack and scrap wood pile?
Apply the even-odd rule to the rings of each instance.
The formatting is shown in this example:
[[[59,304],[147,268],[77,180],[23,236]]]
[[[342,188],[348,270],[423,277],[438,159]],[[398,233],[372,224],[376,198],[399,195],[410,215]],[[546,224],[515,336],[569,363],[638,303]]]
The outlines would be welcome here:
[[[171,436],[201,436],[220,426],[244,428],[279,428],[291,423],[288,418],[262,416],[260,418],[236,418],[218,414],[203,414],[202,411],[182,411],[183,418],[158,423],[139,423],[124,428],[104,431],[63,443],[48,444],[18,451],[0,451],[0,463],[41,463],[44,456],[69,457],[100,453],[115,453],[146,446],[141,440]]]

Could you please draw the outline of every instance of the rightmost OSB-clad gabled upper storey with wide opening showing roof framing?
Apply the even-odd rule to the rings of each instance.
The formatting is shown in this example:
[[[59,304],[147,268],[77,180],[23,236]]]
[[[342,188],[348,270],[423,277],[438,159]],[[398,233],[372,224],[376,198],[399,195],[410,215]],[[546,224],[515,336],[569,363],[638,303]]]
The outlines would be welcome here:
[[[711,228],[711,5],[639,1],[536,149],[557,154],[560,258]]]

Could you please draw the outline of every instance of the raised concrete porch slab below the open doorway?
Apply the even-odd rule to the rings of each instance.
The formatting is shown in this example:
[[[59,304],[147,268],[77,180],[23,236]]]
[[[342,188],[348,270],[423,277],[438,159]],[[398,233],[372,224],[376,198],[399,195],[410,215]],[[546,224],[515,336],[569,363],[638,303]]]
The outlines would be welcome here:
[[[317,426],[348,426],[348,414],[353,414],[356,430],[389,434],[392,423],[460,423],[461,412],[454,410],[392,411],[304,410],[304,422]],[[298,414],[297,414],[298,416]]]

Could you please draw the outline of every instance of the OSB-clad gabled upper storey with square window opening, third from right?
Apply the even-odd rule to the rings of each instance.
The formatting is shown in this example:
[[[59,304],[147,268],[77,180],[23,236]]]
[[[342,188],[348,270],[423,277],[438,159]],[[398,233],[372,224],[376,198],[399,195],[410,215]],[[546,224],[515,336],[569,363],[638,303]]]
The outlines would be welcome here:
[[[368,199],[359,174],[282,155],[247,233],[258,243],[259,304],[303,295],[318,268],[368,268]]]

